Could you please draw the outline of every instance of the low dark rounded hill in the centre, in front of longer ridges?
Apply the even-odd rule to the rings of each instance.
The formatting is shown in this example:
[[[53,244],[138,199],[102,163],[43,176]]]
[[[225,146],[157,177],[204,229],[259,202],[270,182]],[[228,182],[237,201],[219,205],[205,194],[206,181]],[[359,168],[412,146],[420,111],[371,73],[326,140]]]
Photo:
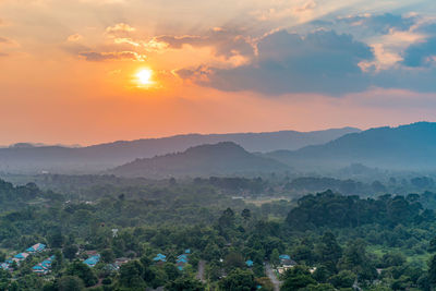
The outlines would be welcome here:
[[[222,142],[191,147],[183,153],[136,159],[110,170],[109,173],[123,177],[165,178],[256,174],[284,170],[289,168],[274,159],[250,154],[234,143]]]

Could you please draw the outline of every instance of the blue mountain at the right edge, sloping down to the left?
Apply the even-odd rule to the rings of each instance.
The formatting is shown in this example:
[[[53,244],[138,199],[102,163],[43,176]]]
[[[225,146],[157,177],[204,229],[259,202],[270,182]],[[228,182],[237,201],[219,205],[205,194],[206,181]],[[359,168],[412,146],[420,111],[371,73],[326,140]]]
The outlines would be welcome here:
[[[436,123],[417,122],[347,134],[324,145],[265,155],[295,169],[337,169],[350,163],[398,170],[436,169]]]

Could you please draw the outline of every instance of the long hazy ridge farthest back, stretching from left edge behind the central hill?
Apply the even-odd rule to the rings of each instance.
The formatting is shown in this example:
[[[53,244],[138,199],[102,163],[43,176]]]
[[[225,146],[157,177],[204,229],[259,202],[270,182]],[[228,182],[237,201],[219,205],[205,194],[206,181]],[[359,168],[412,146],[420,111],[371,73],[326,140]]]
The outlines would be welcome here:
[[[323,144],[359,131],[353,128],[344,128],[317,132],[186,134],[131,142],[120,141],[87,147],[35,146],[38,144],[23,143],[9,148],[0,148],[0,172],[95,173],[136,158],[152,158],[157,155],[183,151],[189,147],[202,144],[233,142],[249,151],[271,151]]]

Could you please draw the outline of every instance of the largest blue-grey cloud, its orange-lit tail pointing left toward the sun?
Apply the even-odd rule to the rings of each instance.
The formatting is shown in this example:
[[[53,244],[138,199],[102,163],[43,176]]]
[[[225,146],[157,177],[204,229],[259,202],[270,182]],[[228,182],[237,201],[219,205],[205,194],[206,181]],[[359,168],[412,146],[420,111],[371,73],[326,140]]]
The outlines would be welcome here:
[[[178,72],[182,78],[221,90],[255,90],[267,95],[324,93],[341,95],[367,88],[360,68],[372,49],[350,35],[318,31],[306,36],[279,31],[257,44],[258,56],[233,69],[204,66]]]

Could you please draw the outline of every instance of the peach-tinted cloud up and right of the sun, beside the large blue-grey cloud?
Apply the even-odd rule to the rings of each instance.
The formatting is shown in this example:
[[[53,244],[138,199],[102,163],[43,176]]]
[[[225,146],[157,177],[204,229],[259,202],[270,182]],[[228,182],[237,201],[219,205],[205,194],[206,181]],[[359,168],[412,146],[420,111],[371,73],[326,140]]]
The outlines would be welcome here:
[[[238,31],[214,28],[204,36],[159,36],[157,41],[166,43],[170,48],[181,48],[183,45],[193,47],[214,47],[217,56],[231,58],[233,56],[253,57],[254,48]]]

